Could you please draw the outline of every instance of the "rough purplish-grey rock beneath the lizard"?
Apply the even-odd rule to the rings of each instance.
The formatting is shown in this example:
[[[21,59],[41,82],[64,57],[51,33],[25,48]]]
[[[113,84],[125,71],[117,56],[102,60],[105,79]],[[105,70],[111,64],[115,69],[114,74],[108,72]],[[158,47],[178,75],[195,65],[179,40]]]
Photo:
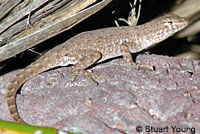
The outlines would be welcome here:
[[[199,133],[200,61],[139,55],[137,62],[154,65],[155,71],[137,70],[115,59],[93,68],[107,80],[98,86],[85,76],[71,83],[69,67],[41,73],[17,95],[19,113],[29,124],[85,134],[130,134],[136,133],[136,126],[143,132],[159,127],[166,134]],[[16,73],[0,77],[2,120],[12,121],[5,96]]]

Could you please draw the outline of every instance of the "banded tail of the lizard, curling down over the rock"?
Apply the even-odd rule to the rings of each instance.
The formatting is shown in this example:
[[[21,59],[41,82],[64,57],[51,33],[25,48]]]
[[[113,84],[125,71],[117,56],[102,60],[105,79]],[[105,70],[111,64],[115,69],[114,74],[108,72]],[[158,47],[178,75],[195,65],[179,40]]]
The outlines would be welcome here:
[[[37,74],[46,71],[50,68],[47,68],[47,66],[42,63],[36,62],[34,64],[31,64],[30,66],[26,67],[24,70],[22,70],[19,74],[16,75],[16,77],[10,82],[7,88],[7,95],[6,100],[8,104],[8,110],[12,116],[12,118],[17,123],[23,123],[25,122],[20,117],[18,111],[17,111],[17,105],[16,105],[16,94],[18,89],[30,78],[36,76]]]

